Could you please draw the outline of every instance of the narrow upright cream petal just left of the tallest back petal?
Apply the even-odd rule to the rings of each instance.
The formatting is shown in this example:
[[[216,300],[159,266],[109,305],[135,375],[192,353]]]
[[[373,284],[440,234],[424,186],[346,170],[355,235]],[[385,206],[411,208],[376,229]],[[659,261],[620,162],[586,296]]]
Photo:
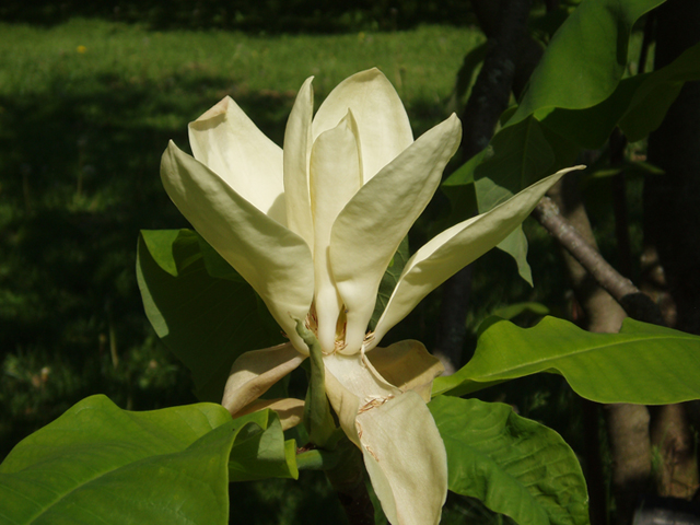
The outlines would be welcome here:
[[[311,121],[314,113],[313,77],[299,90],[284,131],[284,202],[287,226],[314,247],[314,232],[308,195]]]

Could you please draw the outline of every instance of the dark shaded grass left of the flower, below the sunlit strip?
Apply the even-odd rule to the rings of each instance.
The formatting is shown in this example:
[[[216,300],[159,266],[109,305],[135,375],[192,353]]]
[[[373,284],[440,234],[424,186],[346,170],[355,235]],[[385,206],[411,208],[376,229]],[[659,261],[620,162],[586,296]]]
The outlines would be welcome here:
[[[104,77],[0,100],[0,457],[91,394],[133,409],[196,400],[145,319],[136,244],[141,229],[187,226],[161,153],[170,139],[189,151],[187,121],[231,91],[223,78]],[[281,142],[289,95],[236,100]]]

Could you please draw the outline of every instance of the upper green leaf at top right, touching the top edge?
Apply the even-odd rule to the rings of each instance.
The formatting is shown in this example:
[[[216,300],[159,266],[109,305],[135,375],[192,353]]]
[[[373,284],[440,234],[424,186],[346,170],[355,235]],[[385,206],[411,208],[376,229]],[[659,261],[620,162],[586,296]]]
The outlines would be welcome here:
[[[663,2],[581,2],[547,46],[511,124],[532,114],[541,119],[555,107],[591,107],[610,96],[627,67],[634,22]]]

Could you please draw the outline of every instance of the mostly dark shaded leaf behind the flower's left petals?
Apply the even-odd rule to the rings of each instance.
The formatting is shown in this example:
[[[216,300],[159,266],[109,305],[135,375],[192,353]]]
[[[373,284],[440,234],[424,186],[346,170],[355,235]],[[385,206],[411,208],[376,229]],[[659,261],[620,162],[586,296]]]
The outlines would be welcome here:
[[[219,277],[209,273],[215,259],[202,243],[189,230],[141,232],[137,278],[151,325],[192,373],[197,396],[220,401],[233,361],[283,337],[245,281],[215,261]]]

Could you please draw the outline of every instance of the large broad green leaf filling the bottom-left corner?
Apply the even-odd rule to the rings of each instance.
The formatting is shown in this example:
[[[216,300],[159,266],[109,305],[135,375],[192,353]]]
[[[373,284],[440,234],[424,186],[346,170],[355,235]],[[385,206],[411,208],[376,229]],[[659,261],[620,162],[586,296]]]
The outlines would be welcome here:
[[[22,441],[0,465],[0,521],[225,524],[229,459],[247,462],[247,478],[272,470],[269,458],[280,455],[272,450],[280,443],[284,448],[283,434],[279,427],[270,446],[273,432],[265,436],[262,430],[276,418],[231,420],[214,404],[130,412],[105,396],[89,397]],[[294,468],[288,468],[291,475]]]

